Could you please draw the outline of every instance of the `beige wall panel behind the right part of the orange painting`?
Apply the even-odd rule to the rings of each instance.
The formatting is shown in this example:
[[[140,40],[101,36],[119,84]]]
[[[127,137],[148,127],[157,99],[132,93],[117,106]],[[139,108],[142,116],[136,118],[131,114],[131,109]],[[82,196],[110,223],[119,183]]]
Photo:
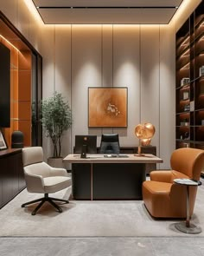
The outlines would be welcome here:
[[[123,146],[137,145],[134,128],[140,119],[140,27],[113,26],[113,86],[128,88],[128,128],[114,128]]]

